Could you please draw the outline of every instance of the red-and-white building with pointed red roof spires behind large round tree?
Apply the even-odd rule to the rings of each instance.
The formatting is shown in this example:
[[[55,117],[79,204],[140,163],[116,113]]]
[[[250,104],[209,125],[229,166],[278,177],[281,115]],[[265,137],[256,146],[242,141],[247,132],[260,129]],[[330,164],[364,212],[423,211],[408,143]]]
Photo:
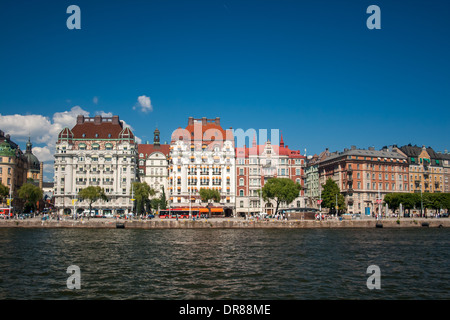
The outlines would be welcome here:
[[[267,140],[257,145],[256,136],[252,146],[236,148],[236,212],[239,216],[254,215],[259,212],[275,213],[275,201],[265,203],[259,190],[270,178],[289,178],[304,187],[304,168],[306,157],[299,150],[291,150],[284,145],[283,135],[279,144]],[[304,207],[304,190],[290,204],[279,208]]]

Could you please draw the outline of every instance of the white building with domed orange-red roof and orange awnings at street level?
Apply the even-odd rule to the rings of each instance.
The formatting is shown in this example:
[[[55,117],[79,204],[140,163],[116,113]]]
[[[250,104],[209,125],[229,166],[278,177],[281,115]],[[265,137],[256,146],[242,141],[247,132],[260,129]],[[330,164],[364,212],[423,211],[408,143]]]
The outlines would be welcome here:
[[[169,151],[168,193],[171,207],[205,206],[199,191],[214,189],[220,202],[212,206],[223,215],[234,215],[235,154],[232,129],[224,130],[220,118],[189,117],[186,128],[176,129]]]

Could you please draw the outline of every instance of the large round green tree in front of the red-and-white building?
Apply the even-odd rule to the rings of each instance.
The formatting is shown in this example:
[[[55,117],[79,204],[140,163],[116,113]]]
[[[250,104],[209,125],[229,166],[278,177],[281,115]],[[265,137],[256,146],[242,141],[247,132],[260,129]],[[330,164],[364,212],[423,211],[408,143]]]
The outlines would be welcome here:
[[[278,212],[280,203],[286,204],[294,201],[298,197],[301,185],[288,178],[271,178],[267,180],[262,187],[260,193],[264,201],[275,200],[276,208],[275,213]]]

